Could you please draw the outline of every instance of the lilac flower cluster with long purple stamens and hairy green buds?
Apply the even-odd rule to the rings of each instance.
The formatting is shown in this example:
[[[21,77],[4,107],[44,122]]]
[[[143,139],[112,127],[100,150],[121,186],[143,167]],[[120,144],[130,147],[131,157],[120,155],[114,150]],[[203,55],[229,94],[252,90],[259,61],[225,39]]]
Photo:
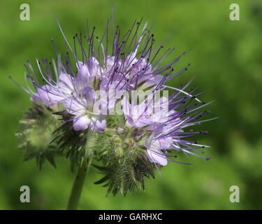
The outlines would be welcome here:
[[[36,59],[41,78],[29,62],[25,64],[27,88],[22,89],[31,95],[31,111],[38,116],[23,120],[23,141],[33,144],[27,134],[30,130],[38,133],[34,138],[36,154],[41,139],[46,148],[56,147],[56,153],[65,153],[73,162],[101,162],[94,166],[105,176],[97,183],[107,182],[105,186],[114,194],[143,188],[144,177],[154,176],[154,168],[159,171],[168,161],[182,163],[175,159],[178,152],[210,159],[199,155],[208,146],[186,139],[207,133],[188,127],[208,121],[198,119],[209,113],[201,111],[209,103],[197,98],[201,93],[196,89],[186,92],[192,80],[180,87],[166,85],[187,71],[189,64],[174,71],[186,52],[166,62],[173,49],[164,50],[163,43],[155,47],[147,22],[142,29],[141,23],[135,21],[120,35],[112,17],[101,38],[94,35],[94,27],[86,35],[75,34],[72,48],[58,22],[69,48],[64,62],[52,41],[57,62]],[[40,123],[43,132],[39,133],[38,120],[45,121],[46,116],[55,121]],[[52,130],[52,141],[50,136],[43,139],[47,130]],[[43,151],[39,153],[43,155]],[[47,155],[50,158],[50,151]]]

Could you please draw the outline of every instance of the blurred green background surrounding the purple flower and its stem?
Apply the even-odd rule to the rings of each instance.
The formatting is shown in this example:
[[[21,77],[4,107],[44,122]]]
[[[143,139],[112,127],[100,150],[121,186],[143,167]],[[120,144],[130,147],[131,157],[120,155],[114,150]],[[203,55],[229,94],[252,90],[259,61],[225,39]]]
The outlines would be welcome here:
[[[20,4],[29,3],[31,20],[20,20]],[[91,168],[79,209],[262,209],[262,2],[261,1],[1,1],[0,9],[0,209],[65,209],[74,174],[69,162],[57,158],[57,169],[48,163],[39,171],[36,161],[23,162],[17,150],[18,122],[29,107],[29,96],[9,79],[24,83],[23,63],[55,56],[50,38],[59,52],[64,39],[56,17],[68,38],[86,31],[86,18],[101,36],[115,6],[116,24],[127,31],[144,17],[154,23],[160,43],[175,46],[177,57],[190,50],[177,69],[191,64],[189,71],[173,80],[180,84],[196,75],[191,87],[207,92],[203,101],[216,101],[208,108],[218,120],[205,123],[199,136],[212,146],[201,158],[180,157],[193,166],[169,162],[163,178],[146,181],[145,191],[122,197],[105,197],[106,189],[94,185],[101,178]],[[231,3],[240,5],[240,21],[229,20]],[[170,57],[171,59],[171,57]],[[20,202],[20,186],[29,186],[31,202]],[[230,186],[239,186],[240,203],[229,201]]]

